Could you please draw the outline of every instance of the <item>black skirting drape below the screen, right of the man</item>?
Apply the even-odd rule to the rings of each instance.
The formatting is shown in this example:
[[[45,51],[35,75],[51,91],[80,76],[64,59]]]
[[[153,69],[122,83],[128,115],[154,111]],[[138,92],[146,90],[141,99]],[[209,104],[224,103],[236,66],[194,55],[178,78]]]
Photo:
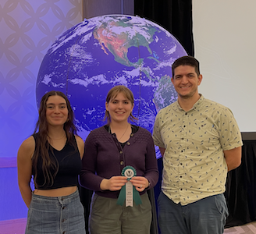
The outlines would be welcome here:
[[[229,172],[226,201],[229,217],[226,227],[256,220],[256,140],[243,140],[242,163]]]

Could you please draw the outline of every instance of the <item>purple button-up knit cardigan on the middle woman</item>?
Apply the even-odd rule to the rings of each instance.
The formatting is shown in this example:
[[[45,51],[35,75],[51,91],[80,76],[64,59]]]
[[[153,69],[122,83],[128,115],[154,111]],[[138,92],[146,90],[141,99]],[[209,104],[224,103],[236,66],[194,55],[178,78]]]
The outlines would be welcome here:
[[[151,133],[139,127],[122,148],[115,133],[108,133],[102,126],[88,135],[84,145],[83,167],[80,184],[94,190],[99,196],[117,198],[119,191],[101,190],[102,179],[121,176],[126,165],[136,169],[137,176],[144,176],[150,182],[150,189],[158,182],[158,165],[155,145]],[[145,193],[145,190],[140,194]]]

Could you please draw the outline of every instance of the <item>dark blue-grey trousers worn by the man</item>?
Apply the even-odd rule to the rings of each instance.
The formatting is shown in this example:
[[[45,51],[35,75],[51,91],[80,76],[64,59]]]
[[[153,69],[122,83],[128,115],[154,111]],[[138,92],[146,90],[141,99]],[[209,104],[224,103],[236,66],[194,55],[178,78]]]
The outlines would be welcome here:
[[[164,193],[158,197],[158,224],[161,234],[222,234],[228,209],[223,194],[192,204],[175,204]]]

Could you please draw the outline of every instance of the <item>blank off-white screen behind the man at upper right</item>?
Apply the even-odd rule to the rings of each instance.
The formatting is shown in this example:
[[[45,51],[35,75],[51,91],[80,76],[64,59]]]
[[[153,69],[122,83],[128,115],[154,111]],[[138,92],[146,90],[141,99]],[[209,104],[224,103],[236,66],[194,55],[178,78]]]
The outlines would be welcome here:
[[[192,3],[199,91],[229,107],[241,132],[256,132],[256,1]]]

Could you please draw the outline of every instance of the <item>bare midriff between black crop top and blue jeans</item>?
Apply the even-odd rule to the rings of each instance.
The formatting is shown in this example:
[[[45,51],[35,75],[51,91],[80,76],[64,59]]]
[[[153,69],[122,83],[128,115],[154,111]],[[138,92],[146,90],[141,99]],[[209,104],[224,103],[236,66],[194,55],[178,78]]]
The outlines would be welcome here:
[[[72,193],[75,193],[76,190],[77,186],[69,186],[52,190],[34,190],[34,194],[44,197],[64,197],[69,196]]]

